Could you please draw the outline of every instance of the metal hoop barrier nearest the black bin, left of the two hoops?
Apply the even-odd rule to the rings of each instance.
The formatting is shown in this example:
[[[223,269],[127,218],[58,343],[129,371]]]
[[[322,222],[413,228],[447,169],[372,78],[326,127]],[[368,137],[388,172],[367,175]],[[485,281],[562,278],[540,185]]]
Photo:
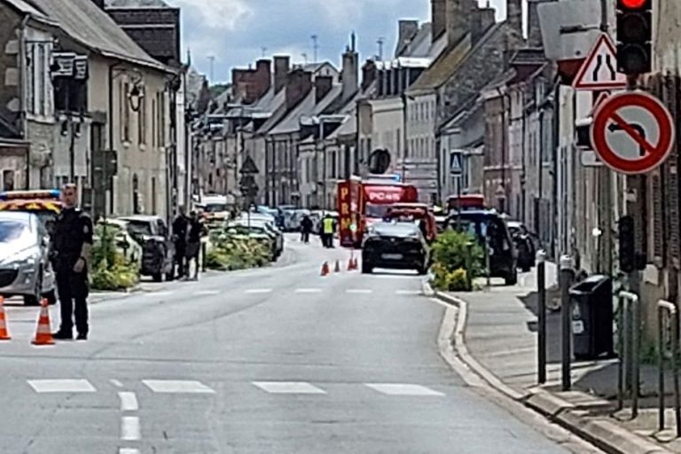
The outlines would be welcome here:
[[[631,372],[631,419],[638,417],[638,394],[639,394],[639,372],[638,372],[638,295],[630,292],[620,292],[620,333],[618,333],[617,343],[620,349],[620,361],[617,364],[617,405],[618,409],[624,407],[625,372]],[[626,329],[622,329],[626,327]],[[631,329],[629,329],[631,327]],[[629,339],[624,334],[631,333]],[[626,371],[625,371],[626,369]]]

